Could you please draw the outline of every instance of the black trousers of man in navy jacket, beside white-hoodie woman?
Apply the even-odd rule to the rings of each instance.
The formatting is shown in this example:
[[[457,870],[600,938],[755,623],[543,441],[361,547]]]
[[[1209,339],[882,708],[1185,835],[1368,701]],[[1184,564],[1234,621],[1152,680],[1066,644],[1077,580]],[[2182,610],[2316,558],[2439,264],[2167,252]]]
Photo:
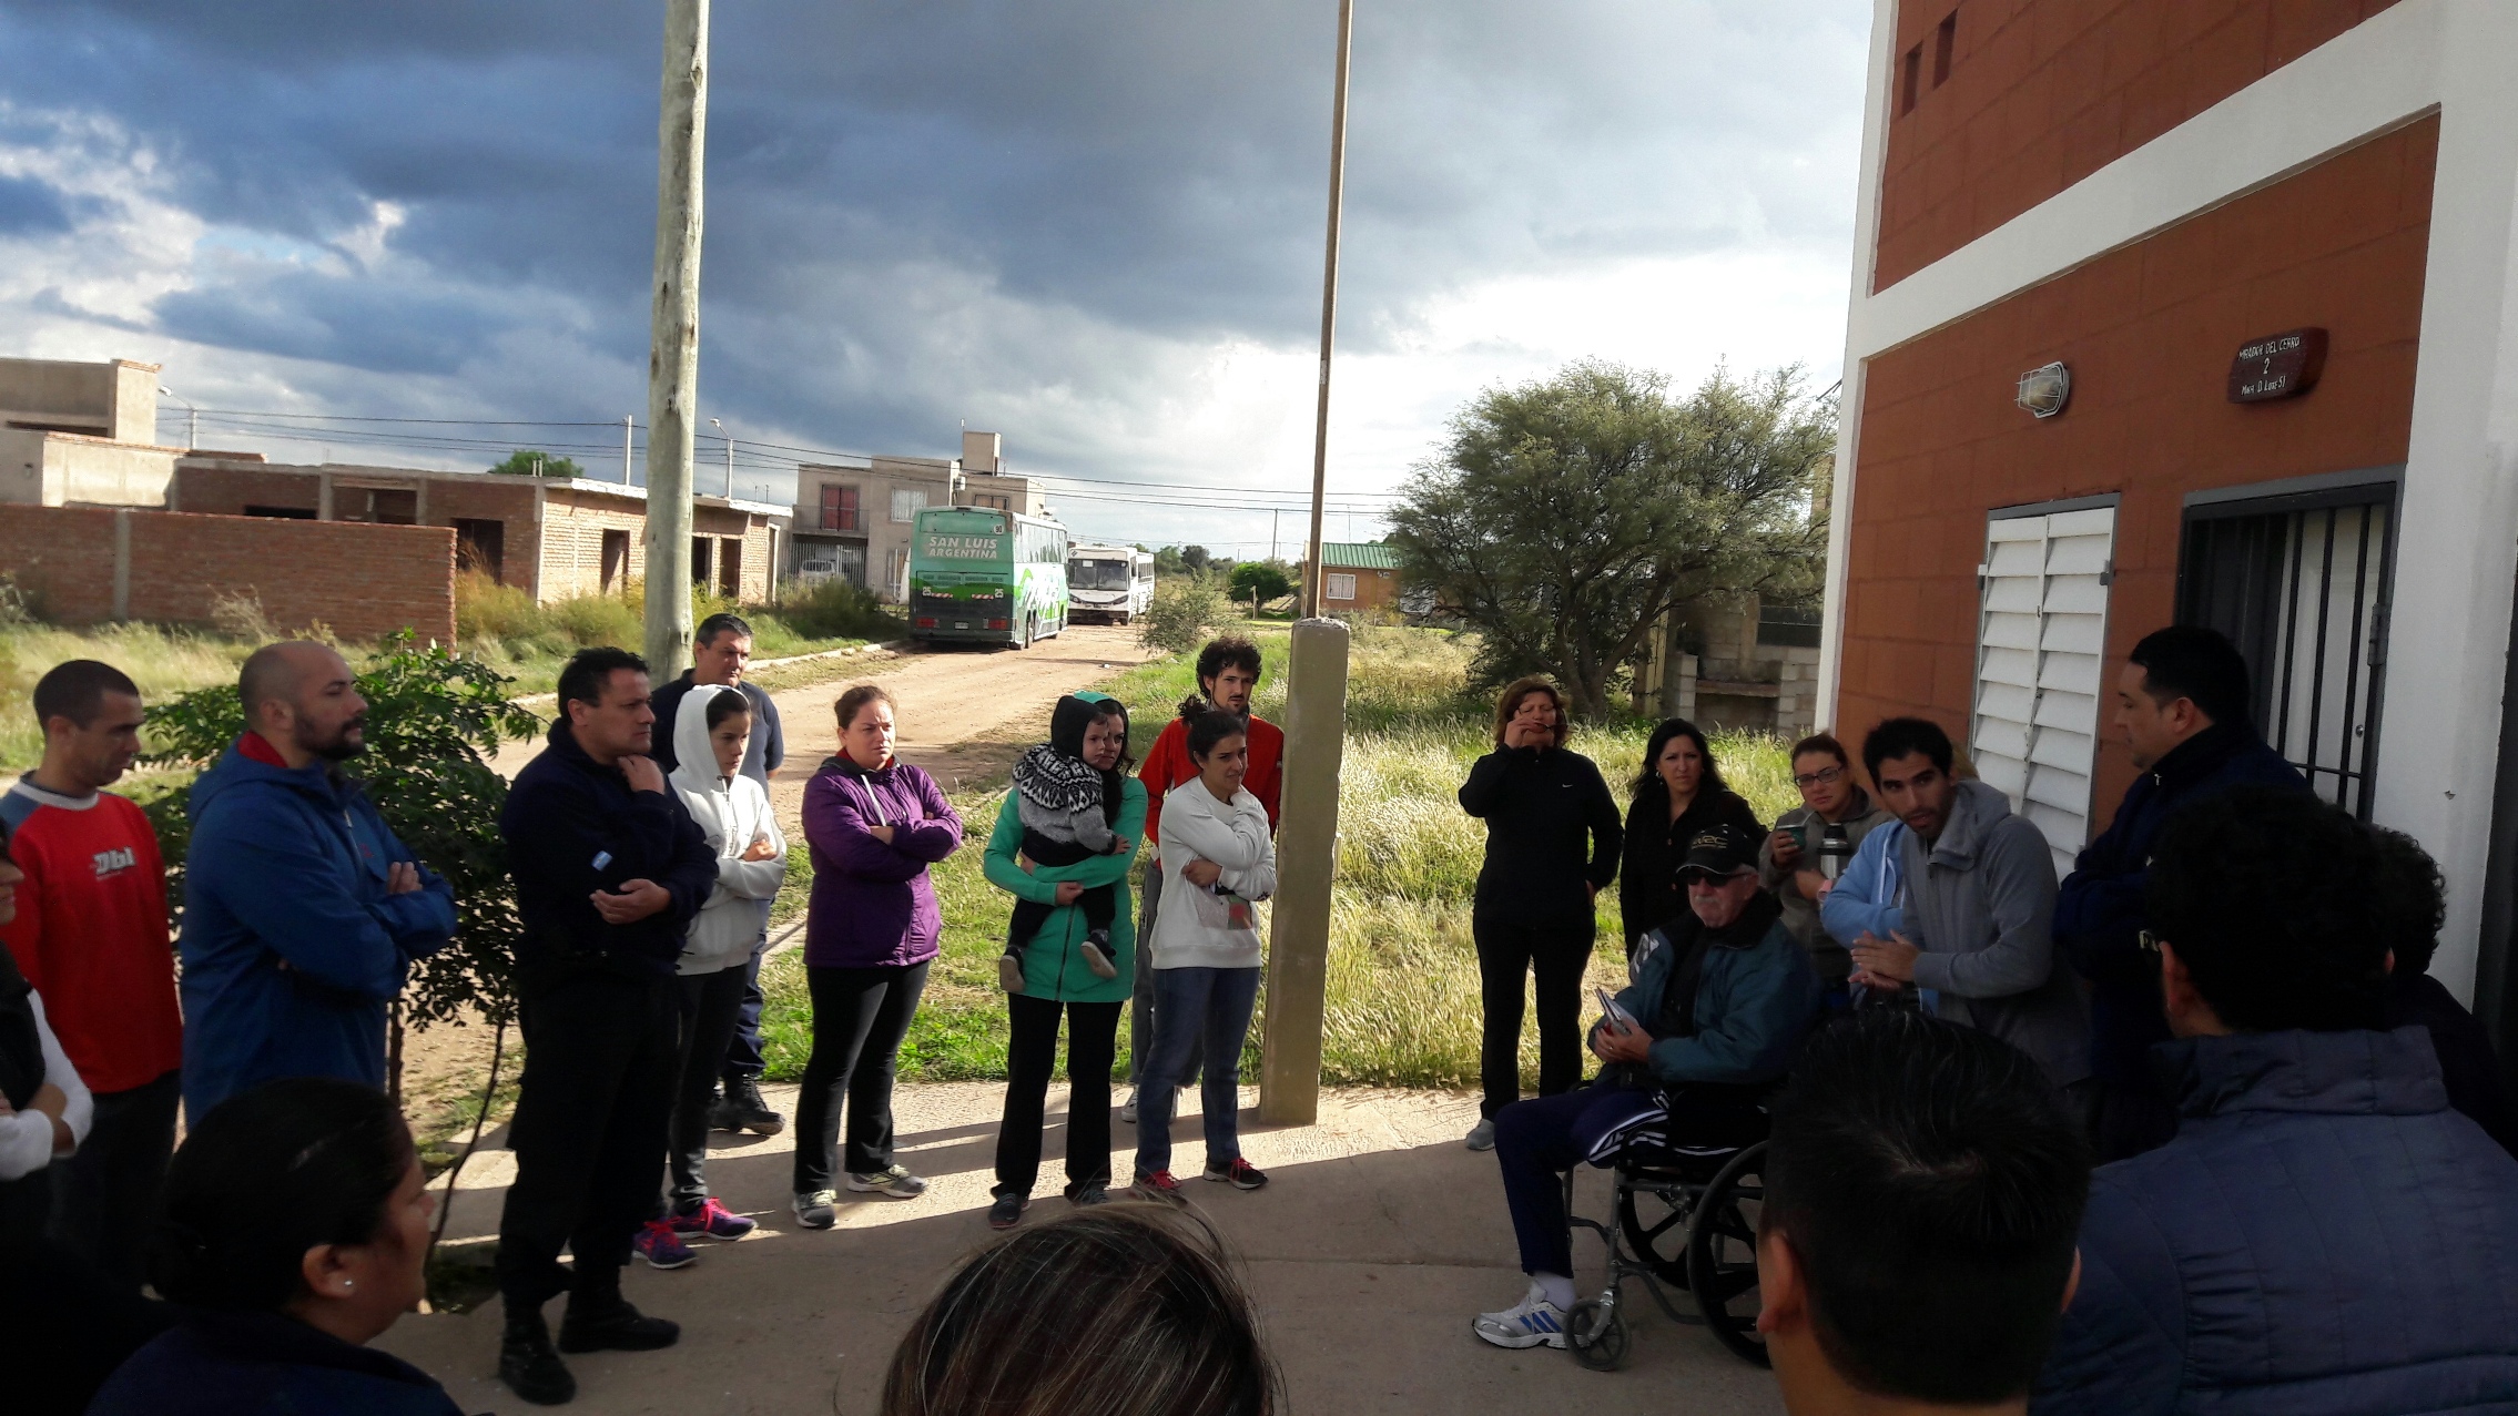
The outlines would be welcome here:
[[[524,1084],[509,1147],[516,1182],[499,1217],[499,1293],[539,1305],[619,1283],[630,1235],[655,1207],[682,1031],[680,981],[579,973],[524,998]]]

